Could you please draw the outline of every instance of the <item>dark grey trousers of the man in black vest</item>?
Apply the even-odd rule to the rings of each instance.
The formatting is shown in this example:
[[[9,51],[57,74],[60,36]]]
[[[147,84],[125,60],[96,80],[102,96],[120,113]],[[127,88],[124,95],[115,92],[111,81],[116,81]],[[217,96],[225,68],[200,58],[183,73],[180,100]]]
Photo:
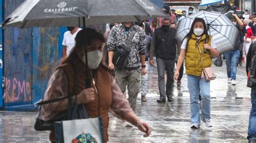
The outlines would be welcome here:
[[[167,74],[166,91],[164,83],[164,74]],[[174,81],[174,60],[164,60],[157,58],[157,73],[158,73],[158,88],[160,92],[160,98],[166,98],[172,96],[172,84]]]

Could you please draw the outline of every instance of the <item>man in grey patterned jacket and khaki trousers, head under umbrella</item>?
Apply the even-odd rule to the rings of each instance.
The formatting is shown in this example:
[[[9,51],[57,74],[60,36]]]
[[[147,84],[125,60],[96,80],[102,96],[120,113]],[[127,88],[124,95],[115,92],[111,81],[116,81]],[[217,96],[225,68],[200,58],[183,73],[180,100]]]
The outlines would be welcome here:
[[[127,22],[113,26],[107,39],[107,51],[109,51],[109,68],[114,69],[113,55],[119,45],[125,44],[127,39],[131,40],[129,59],[124,69],[116,69],[114,74],[119,88],[125,92],[126,85],[129,94],[129,102],[132,110],[135,110],[136,99],[140,90],[140,70],[145,75],[145,49],[146,35],[143,28]],[[140,65],[141,62],[141,65]]]

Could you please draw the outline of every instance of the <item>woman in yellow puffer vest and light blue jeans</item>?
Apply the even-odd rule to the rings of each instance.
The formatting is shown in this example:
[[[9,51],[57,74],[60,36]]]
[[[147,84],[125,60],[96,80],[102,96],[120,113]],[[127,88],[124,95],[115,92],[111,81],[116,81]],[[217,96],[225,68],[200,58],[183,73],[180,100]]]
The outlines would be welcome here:
[[[199,49],[200,48],[200,49]],[[206,52],[207,51],[207,52]],[[201,119],[206,123],[206,127],[212,127],[211,124],[211,96],[210,81],[201,77],[203,65],[205,68],[211,67],[211,56],[218,57],[218,50],[215,42],[206,30],[204,19],[195,18],[190,32],[186,35],[181,45],[181,52],[178,59],[175,80],[178,79],[179,69],[185,59],[187,74],[187,85],[190,93],[190,115],[191,128],[200,128],[199,115],[199,92],[202,98]],[[201,58],[203,61],[201,61]]]

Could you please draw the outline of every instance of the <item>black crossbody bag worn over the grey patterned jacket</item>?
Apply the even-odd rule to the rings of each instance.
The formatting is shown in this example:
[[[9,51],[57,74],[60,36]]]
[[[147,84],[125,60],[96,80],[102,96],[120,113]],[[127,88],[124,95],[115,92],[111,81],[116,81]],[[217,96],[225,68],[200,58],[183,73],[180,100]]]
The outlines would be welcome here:
[[[137,32],[138,28],[136,30],[131,31],[130,37],[127,37],[125,42],[119,46],[116,47],[116,51],[114,52],[113,55],[113,64],[115,69],[122,70],[124,69],[126,63],[128,62],[129,59],[129,54],[130,54],[130,45],[132,44],[132,39]]]

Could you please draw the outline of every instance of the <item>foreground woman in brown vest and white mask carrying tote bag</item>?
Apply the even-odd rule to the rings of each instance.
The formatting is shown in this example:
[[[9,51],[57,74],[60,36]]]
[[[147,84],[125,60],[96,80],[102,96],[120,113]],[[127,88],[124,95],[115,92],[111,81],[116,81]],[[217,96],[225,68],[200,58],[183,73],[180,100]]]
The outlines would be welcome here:
[[[150,126],[134,114],[111,71],[101,63],[103,35],[92,28],[85,28],[77,33],[75,41],[68,58],[51,75],[43,99],[43,103],[50,103],[37,104],[42,105],[38,119],[53,123],[50,124],[50,141],[76,142],[86,138],[91,142],[107,142],[109,110],[148,136]],[[66,115],[55,120],[61,112]]]

